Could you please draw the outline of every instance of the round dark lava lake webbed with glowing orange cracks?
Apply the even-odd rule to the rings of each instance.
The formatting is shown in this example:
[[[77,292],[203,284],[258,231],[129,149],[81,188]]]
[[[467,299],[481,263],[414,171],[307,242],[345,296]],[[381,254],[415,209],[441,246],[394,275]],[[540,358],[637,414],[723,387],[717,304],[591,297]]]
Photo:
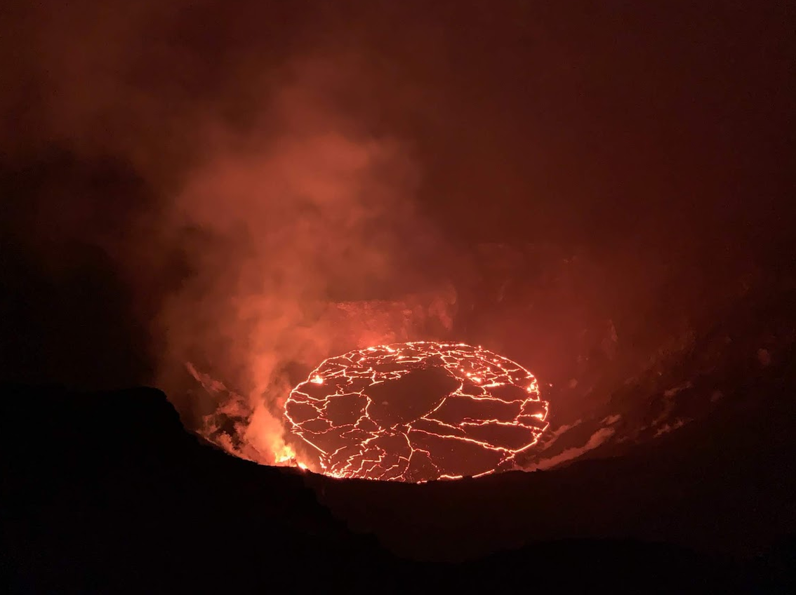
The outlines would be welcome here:
[[[432,342],[332,357],[285,404],[327,475],[413,482],[493,472],[536,444],[547,414],[521,365]]]

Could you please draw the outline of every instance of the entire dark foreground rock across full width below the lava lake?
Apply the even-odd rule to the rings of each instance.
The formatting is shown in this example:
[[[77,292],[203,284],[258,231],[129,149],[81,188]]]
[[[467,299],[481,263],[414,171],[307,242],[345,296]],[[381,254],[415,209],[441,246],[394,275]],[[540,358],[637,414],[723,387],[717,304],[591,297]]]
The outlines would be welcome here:
[[[634,456],[412,485],[230,457],[185,432],[153,389],[5,387],[2,404],[4,559],[17,593],[670,592],[793,578],[783,411],[759,411],[769,431],[729,446],[685,428]],[[716,545],[710,535],[728,547],[704,547]]]

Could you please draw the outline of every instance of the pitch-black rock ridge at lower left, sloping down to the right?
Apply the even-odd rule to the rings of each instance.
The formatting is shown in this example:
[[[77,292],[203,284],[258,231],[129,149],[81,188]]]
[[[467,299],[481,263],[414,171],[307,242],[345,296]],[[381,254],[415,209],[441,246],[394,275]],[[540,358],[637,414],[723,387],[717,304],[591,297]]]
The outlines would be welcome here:
[[[2,399],[15,590],[279,590],[338,580],[341,560],[361,565],[355,585],[383,564],[295,472],[201,444],[158,391],[8,387]]]

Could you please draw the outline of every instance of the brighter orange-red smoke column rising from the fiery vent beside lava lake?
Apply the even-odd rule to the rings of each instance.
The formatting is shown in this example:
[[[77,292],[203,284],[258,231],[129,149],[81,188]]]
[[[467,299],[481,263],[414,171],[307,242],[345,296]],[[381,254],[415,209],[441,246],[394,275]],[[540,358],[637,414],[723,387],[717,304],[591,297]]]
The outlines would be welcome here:
[[[159,317],[168,363],[160,383],[179,362],[205,361],[248,395],[247,421],[233,434],[259,452],[282,450],[273,415],[291,388],[289,364],[308,371],[335,345],[412,338],[423,318],[395,302],[398,324],[374,328],[377,317],[350,315],[390,309],[369,297],[401,295],[395,281],[406,278],[404,257],[423,230],[413,210],[417,174],[400,143],[363,134],[328,104],[334,88],[315,73],[335,66],[298,65],[259,122],[221,134],[164,220],[192,274]],[[451,301],[433,301],[443,321]],[[217,430],[215,417],[210,423]]]

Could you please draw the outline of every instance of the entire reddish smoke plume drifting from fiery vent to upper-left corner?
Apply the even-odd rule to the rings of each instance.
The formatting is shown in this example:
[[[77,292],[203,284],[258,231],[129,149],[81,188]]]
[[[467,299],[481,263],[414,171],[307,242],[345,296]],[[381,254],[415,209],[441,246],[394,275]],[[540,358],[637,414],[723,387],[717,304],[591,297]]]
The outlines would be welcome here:
[[[149,335],[143,381],[264,462],[285,451],[296,375],[335,348],[445,332],[455,302],[428,273],[416,159],[352,107],[374,65],[279,4],[13,6],[18,84],[0,106],[6,161],[56,146],[135,179],[127,197],[60,184],[69,208],[42,193],[21,241],[56,269],[76,241],[99,247]]]

